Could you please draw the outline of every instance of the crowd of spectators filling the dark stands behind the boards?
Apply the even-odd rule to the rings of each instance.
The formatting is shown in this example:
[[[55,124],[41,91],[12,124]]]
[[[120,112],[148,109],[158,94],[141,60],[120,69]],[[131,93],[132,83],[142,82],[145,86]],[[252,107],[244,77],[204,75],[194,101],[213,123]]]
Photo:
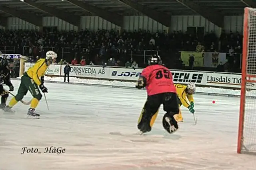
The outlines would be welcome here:
[[[68,62],[126,67],[135,64],[134,68],[146,66],[147,57],[158,53],[169,68],[184,69],[179,51],[218,51],[230,53],[232,57],[242,53],[241,43],[242,35],[224,31],[220,38],[214,31],[205,35],[193,35],[182,31],[173,31],[169,34],[150,33],[146,30],[123,31],[121,34],[114,30],[0,31],[0,47],[11,46],[15,53],[31,56],[31,62],[36,60],[36,57],[43,57],[46,51],[54,50],[61,64]],[[233,63],[232,58],[228,61]]]

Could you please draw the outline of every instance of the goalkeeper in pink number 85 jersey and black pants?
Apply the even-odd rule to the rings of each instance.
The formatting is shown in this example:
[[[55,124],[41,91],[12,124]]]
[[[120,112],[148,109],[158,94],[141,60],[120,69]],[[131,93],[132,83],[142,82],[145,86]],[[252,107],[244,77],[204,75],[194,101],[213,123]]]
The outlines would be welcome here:
[[[138,129],[141,133],[151,131],[161,104],[166,111],[162,124],[168,133],[174,133],[178,129],[178,123],[174,115],[178,114],[178,97],[172,81],[172,73],[168,68],[159,64],[160,57],[154,55],[141,73],[136,88],[146,87],[148,98],[138,120]]]

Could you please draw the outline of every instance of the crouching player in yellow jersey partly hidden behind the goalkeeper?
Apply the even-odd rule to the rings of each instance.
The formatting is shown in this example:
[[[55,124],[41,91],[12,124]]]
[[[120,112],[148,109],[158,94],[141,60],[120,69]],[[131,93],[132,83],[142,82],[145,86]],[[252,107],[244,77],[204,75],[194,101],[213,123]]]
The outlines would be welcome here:
[[[179,106],[184,106],[189,109],[191,113],[194,113],[194,98],[193,94],[196,91],[196,85],[192,82],[188,83],[188,85],[182,85],[182,84],[175,84],[177,95],[178,95],[178,103]],[[181,114],[181,110],[179,111],[179,114],[176,114],[175,117],[176,121],[182,122],[183,117]]]

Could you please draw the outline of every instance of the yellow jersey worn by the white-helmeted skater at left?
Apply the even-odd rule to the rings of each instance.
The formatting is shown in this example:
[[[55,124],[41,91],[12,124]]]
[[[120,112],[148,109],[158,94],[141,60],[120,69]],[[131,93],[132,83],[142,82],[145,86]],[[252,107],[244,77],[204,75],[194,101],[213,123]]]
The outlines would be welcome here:
[[[46,72],[47,68],[48,68],[48,65],[46,64],[46,60],[45,59],[39,59],[34,64],[34,66],[28,68],[26,73],[39,86],[42,83],[40,77],[44,76],[44,73]]]

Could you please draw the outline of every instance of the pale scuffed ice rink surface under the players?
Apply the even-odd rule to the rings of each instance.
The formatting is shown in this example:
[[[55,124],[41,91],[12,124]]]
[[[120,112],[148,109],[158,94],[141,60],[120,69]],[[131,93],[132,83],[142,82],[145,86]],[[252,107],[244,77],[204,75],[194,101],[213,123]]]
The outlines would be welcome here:
[[[13,84],[16,94],[19,81]],[[20,102],[15,114],[0,112],[0,170],[256,168],[255,156],[236,154],[239,98],[194,95],[197,125],[182,107],[184,122],[170,135],[162,127],[160,111],[152,131],[139,136],[134,134],[146,91],[49,83],[46,87],[50,111],[42,98],[40,119],[28,119],[29,106]],[[24,101],[30,99],[29,94]],[[65,153],[44,153],[51,146]],[[23,147],[42,153],[21,154]]]

